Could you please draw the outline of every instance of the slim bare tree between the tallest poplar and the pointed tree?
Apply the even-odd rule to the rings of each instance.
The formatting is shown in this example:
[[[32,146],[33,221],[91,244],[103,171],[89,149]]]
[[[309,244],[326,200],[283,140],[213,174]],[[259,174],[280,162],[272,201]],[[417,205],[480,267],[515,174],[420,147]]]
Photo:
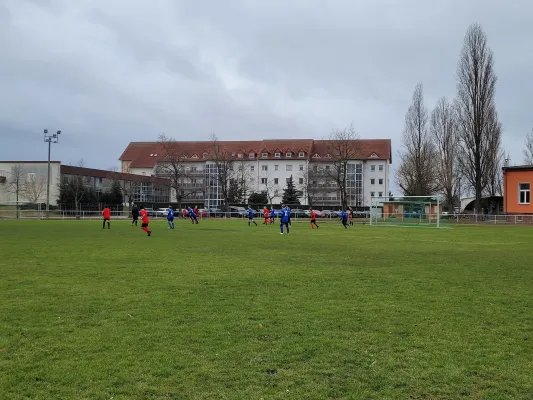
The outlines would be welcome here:
[[[458,195],[457,143],[459,140],[456,108],[445,97],[431,112],[431,136],[436,147],[437,179],[445,204],[451,209]]]

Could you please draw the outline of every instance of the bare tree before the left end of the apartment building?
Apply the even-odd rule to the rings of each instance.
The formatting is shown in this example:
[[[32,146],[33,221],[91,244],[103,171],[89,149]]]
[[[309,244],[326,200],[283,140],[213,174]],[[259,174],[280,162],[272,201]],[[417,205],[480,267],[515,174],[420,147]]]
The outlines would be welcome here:
[[[179,148],[178,143],[164,134],[159,135],[159,144],[163,151],[164,160],[159,162],[156,167],[158,176],[170,179],[170,187],[176,194],[176,202],[181,208],[181,202],[198,190],[185,190],[187,179],[190,179],[189,173],[185,168],[186,154]]]

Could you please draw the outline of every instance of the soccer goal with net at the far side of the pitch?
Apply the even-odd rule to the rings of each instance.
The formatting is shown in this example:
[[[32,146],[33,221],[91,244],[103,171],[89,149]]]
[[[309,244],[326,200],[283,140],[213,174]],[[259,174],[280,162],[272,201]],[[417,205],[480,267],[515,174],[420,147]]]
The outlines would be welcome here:
[[[370,225],[441,227],[439,196],[372,197]]]

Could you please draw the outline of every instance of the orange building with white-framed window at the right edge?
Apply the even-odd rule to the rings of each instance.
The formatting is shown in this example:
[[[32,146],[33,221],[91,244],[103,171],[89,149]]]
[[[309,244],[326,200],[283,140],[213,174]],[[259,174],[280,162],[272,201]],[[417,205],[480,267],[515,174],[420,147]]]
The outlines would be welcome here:
[[[503,211],[506,214],[533,214],[532,183],[533,165],[503,168]]]

